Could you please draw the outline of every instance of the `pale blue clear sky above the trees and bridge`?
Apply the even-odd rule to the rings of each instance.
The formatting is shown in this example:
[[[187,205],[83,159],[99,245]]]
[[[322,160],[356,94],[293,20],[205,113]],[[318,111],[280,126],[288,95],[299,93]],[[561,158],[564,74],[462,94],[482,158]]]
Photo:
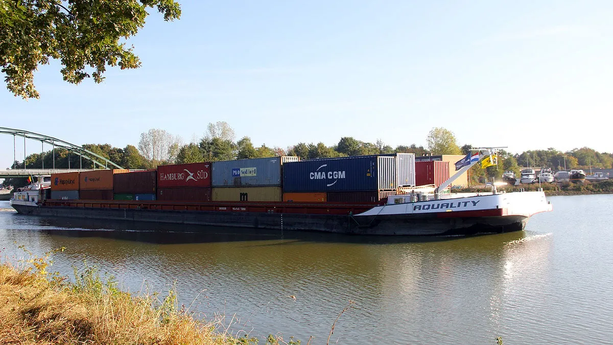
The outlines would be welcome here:
[[[0,126],[116,147],[216,121],[271,147],[425,145],[443,126],[460,145],[613,151],[611,1],[180,2],[129,41],[142,68],[72,85],[42,66],[40,99],[2,85]],[[13,138],[0,147],[10,166]]]

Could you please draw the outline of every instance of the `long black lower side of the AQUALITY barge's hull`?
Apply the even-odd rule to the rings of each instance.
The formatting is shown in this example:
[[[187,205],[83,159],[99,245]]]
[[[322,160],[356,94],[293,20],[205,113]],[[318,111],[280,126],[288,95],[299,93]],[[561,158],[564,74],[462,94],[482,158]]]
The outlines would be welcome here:
[[[159,211],[88,207],[13,205],[20,214],[44,217],[125,220],[263,228],[273,230],[325,231],[355,235],[473,235],[523,230],[528,218],[519,215],[492,217],[437,217],[436,214],[351,216],[325,214],[277,214],[219,211]],[[203,229],[206,230],[206,229]]]

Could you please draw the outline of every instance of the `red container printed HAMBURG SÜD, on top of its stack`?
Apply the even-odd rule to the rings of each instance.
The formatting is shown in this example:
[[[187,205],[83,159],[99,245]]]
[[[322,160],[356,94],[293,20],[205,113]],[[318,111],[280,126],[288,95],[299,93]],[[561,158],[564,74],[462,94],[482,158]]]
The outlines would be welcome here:
[[[158,188],[211,187],[211,163],[158,166]]]

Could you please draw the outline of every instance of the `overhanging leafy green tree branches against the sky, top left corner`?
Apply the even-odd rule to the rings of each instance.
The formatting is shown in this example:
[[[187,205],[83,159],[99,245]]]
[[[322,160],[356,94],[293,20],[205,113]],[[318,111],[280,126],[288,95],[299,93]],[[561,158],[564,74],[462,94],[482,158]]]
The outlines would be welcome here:
[[[24,99],[39,98],[34,71],[58,60],[64,80],[104,80],[107,66],[138,68],[139,57],[124,42],[145,25],[147,8],[164,20],[181,15],[173,0],[0,0],[0,66],[7,88]]]

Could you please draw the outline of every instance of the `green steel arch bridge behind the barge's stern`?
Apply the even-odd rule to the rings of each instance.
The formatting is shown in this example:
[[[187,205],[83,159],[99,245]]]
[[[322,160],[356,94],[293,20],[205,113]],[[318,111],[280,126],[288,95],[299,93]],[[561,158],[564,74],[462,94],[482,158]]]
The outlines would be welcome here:
[[[97,155],[94,152],[84,149],[81,146],[71,144],[70,142],[63,141],[58,138],[53,138],[52,136],[47,136],[45,134],[39,134],[39,133],[31,132],[31,131],[17,130],[15,128],[6,128],[6,127],[0,127],[0,134],[8,134],[8,135],[13,136],[13,162],[16,161],[16,157],[15,157],[17,153],[17,150],[15,149],[16,138],[23,137],[23,160],[24,160],[23,170],[27,170],[27,166],[25,165],[26,139],[40,141],[41,153],[44,152],[44,144],[48,144],[53,147],[53,170],[55,170],[55,148],[56,147],[58,149],[67,150],[69,154],[74,153],[78,155],[80,157],[79,158],[80,166],[78,169],[83,168],[83,158],[85,158],[85,160],[91,161],[93,163],[94,169],[96,168],[96,165],[100,167],[104,167],[106,169],[109,169],[109,168],[123,169],[118,164],[113,163],[113,161],[110,161],[107,158],[102,157],[101,155]],[[41,159],[42,159],[42,156],[41,156]],[[70,160],[68,160],[68,163],[70,164]],[[12,169],[12,170],[17,172],[17,169]],[[63,169],[63,171],[65,170],[66,169]],[[73,170],[77,170],[77,169],[73,169]],[[91,170],[91,169],[88,169],[88,170]],[[33,169],[31,169],[30,171],[33,171]],[[47,170],[44,169],[44,161],[43,161],[43,169],[40,172],[42,171],[45,171],[45,172],[50,171],[49,169]]]

